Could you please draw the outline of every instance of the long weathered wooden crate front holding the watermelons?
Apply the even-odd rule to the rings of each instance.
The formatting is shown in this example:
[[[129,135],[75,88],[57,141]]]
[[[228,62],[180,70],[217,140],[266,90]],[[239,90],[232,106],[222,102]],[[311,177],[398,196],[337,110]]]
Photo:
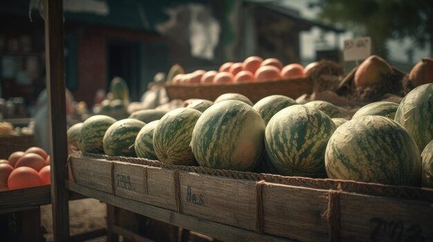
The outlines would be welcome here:
[[[69,165],[79,185],[257,236],[295,241],[433,241],[433,190],[427,188],[212,170],[95,154],[70,157]]]

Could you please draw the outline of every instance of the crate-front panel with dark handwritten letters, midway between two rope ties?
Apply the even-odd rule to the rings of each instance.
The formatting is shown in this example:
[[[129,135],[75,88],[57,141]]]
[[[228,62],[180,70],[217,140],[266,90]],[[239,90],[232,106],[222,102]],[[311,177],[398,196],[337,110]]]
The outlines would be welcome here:
[[[183,213],[255,230],[255,181],[180,172]]]

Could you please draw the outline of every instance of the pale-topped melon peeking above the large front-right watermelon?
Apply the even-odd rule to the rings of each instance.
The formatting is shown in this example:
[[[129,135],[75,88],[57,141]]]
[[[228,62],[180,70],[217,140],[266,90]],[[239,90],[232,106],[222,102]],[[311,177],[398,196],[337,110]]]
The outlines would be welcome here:
[[[375,103],[370,103],[360,108],[353,114],[352,119],[358,119],[359,117],[367,116],[367,115],[378,115],[387,117],[389,119],[394,119],[396,116],[396,111],[398,108],[397,103],[393,103],[390,101],[377,101]]]

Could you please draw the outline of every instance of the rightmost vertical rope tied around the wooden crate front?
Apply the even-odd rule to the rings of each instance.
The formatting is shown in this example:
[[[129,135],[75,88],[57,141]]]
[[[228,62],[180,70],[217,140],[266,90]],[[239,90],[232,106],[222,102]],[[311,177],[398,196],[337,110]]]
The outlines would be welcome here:
[[[331,242],[340,242],[340,199],[341,191],[329,190],[328,208],[322,214],[322,217],[328,222],[328,236]]]

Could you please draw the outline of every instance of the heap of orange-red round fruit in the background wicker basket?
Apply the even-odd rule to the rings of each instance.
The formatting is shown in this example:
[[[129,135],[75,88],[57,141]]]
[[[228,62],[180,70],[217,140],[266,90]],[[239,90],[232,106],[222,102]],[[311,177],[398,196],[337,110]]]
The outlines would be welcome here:
[[[171,80],[176,83],[248,83],[251,81],[272,81],[277,79],[301,78],[316,63],[306,68],[298,63],[283,65],[279,59],[248,57],[243,62],[227,62],[216,70],[196,70],[183,74],[178,72]]]

